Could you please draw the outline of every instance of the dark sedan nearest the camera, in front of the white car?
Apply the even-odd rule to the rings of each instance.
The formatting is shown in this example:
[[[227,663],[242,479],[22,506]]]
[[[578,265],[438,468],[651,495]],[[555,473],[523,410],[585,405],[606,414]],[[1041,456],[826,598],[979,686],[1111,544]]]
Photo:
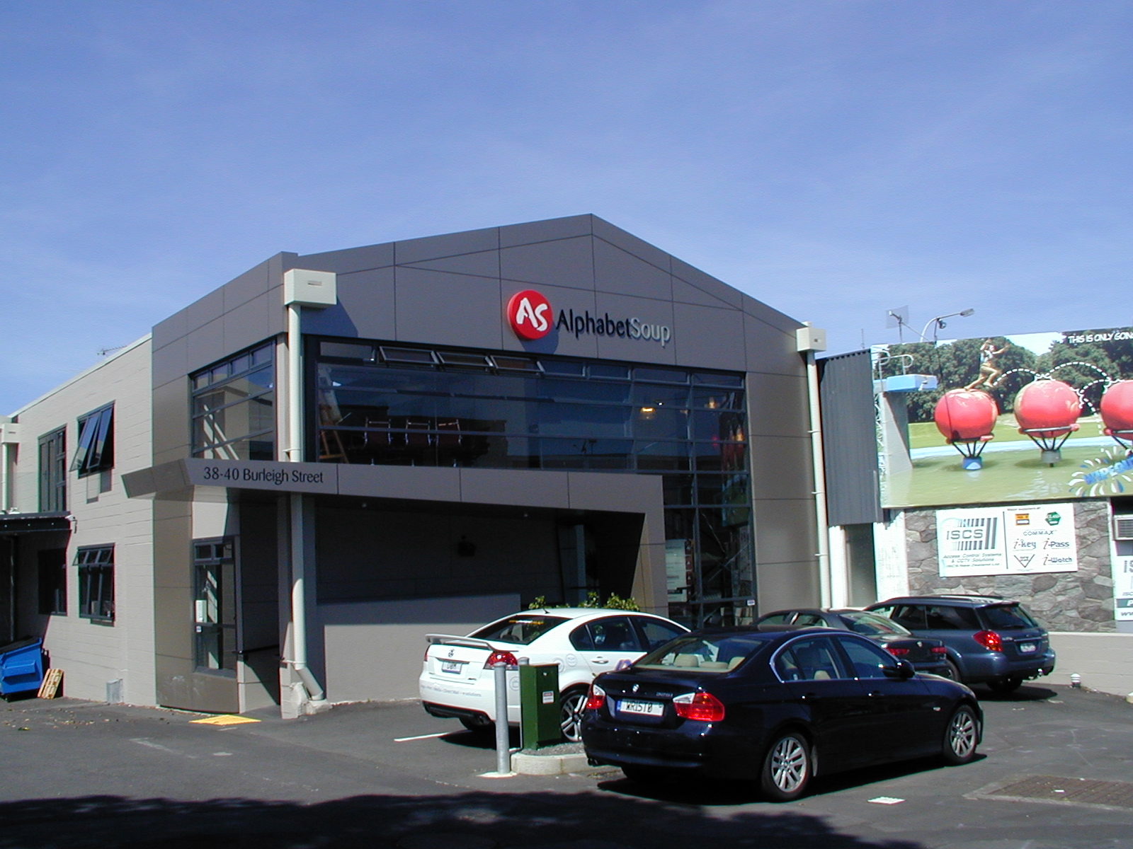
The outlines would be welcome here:
[[[758,781],[780,801],[860,766],[976,756],[983,715],[963,684],[920,676],[869,640],[829,628],[693,632],[590,687],[593,764],[633,780]]]

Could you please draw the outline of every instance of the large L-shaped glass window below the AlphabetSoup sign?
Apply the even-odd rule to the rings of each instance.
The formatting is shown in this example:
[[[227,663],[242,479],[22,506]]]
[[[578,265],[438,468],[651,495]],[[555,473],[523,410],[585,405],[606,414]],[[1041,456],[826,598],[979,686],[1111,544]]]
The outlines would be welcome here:
[[[670,612],[700,624],[755,611],[743,376],[321,340],[315,456],[375,465],[661,474]]]

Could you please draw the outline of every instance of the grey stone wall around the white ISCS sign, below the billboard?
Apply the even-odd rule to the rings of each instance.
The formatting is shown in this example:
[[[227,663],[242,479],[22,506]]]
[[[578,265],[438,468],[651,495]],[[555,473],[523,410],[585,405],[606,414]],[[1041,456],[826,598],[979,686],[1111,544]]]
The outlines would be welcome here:
[[[909,511],[905,513],[909,591],[1002,595],[1022,601],[1048,631],[1114,632],[1109,501],[1076,501],[1074,525],[1077,572],[942,577],[936,552],[936,511]]]

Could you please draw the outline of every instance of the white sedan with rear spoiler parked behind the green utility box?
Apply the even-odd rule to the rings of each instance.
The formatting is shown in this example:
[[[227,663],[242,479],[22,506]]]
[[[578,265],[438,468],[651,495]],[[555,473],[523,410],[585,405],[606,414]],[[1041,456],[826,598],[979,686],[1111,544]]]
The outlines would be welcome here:
[[[580,718],[590,681],[599,672],[629,666],[647,651],[688,631],[653,614],[595,608],[523,610],[467,636],[429,634],[420,696],[434,717],[455,717],[478,730],[495,722],[492,667],[559,664],[563,737],[581,739]],[[519,674],[508,672],[508,722],[519,724]]]

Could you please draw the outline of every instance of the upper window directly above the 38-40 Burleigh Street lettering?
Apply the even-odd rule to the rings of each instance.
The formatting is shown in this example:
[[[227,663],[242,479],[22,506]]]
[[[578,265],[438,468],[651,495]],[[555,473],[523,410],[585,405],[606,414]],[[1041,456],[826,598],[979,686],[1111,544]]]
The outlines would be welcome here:
[[[267,343],[189,376],[193,456],[275,460],[273,360]]]

